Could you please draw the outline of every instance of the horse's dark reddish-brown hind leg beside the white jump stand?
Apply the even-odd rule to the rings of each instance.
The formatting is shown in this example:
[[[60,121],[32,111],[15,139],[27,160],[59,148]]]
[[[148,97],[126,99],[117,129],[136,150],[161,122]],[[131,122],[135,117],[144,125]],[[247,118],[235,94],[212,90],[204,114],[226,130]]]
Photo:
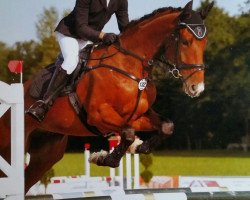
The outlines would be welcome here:
[[[58,162],[65,152],[68,136],[43,133],[31,136],[29,166],[25,170],[25,192],[28,192],[46,171]]]

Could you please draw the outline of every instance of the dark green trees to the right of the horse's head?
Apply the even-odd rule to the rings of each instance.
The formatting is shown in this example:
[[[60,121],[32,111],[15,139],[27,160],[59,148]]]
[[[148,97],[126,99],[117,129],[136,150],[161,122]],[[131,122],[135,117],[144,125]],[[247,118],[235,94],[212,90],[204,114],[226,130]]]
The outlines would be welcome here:
[[[248,121],[245,118],[250,102],[249,13],[231,17],[215,5],[205,23],[205,63],[210,67],[206,70],[205,92],[199,98],[186,97],[180,90],[181,82],[157,70],[160,75],[156,74],[154,108],[175,123],[175,133],[165,141],[169,148],[225,148],[230,142],[239,142],[246,133],[244,123]]]

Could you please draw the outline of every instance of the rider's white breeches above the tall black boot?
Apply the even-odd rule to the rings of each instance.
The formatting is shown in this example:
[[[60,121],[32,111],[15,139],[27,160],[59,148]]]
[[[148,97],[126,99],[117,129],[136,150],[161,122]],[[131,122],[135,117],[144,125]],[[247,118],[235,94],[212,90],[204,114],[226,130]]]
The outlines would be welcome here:
[[[92,42],[68,37],[59,32],[56,32],[56,37],[64,58],[61,67],[67,74],[71,74],[79,62],[79,51]]]

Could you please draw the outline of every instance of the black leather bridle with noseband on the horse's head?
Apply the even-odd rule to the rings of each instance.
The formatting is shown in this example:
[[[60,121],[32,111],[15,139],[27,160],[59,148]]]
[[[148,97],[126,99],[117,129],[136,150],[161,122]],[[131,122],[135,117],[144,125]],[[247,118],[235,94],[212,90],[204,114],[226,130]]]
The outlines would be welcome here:
[[[195,26],[196,28],[193,30],[191,27]],[[204,32],[201,32],[201,28],[197,27],[204,27]],[[162,55],[160,59],[158,59],[160,62],[164,63],[168,66],[169,72],[173,75],[175,78],[180,78],[183,82],[185,82],[187,79],[189,79],[191,76],[193,76],[196,72],[204,70],[207,66],[202,64],[190,64],[190,63],[183,63],[181,61],[180,56],[180,30],[182,28],[188,28],[190,32],[199,40],[203,39],[206,35],[206,27],[204,24],[186,24],[184,22],[179,22],[173,33],[170,35],[169,38],[166,40],[166,45],[164,48],[164,52],[167,51],[168,47],[170,46],[170,42],[175,42],[175,55],[174,55],[174,62],[170,61],[170,59],[166,58],[165,55]],[[180,70],[187,70],[187,69],[196,69],[193,73],[191,73],[188,77],[183,79],[183,76],[180,73]]]

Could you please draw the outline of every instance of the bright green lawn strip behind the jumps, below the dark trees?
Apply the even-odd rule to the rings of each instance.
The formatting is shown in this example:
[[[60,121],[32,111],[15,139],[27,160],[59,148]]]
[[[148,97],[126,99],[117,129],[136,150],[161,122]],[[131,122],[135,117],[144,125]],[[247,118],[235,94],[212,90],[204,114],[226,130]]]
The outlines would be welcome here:
[[[250,176],[250,153],[230,151],[165,151],[153,155],[154,175]],[[125,164],[125,159],[124,159]],[[125,165],[124,165],[125,168]],[[83,175],[84,154],[67,153],[53,169],[55,176]],[[140,166],[140,171],[144,167]],[[91,164],[91,176],[108,176],[108,167]]]

